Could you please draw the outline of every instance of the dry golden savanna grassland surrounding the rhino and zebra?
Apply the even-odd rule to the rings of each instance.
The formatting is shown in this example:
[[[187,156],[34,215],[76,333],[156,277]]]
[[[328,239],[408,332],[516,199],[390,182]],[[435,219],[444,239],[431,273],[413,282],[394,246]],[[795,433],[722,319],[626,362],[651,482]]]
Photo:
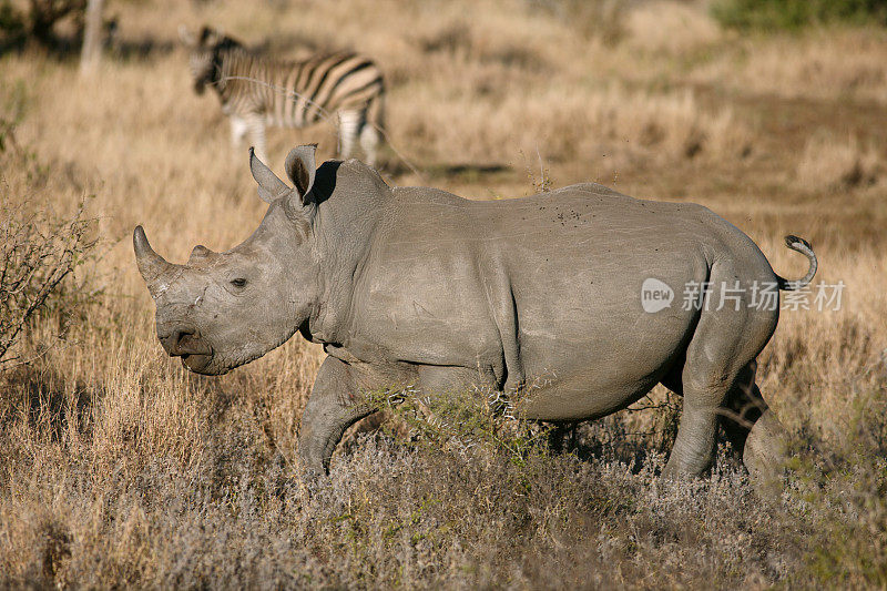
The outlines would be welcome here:
[[[0,223],[70,218],[85,198],[81,243],[100,241],[0,369],[1,585],[887,585],[887,31],[738,34],[686,2],[109,12],[119,35],[94,78],[75,57],[0,57]],[[838,312],[785,312],[761,358],[792,432],[782,499],[762,501],[725,449],[711,478],[661,480],[680,399],[660,390],[562,454],[482,414],[473,446],[399,417],[347,436],[308,495],[296,434],[322,351],[296,337],[191,375],[161,349],[133,262],[139,223],[183,261],[238,243],[265,208],[216,99],[191,92],[176,28],[203,22],[277,53],[376,58],[391,145],[418,171],[389,152],[390,183],[503,198],[595,180],[693,201],[792,277],[806,262],[782,236],[808,238],[817,279],[847,287]],[[333,125],[271,132],[269,164],[315,141],[332,156]]]

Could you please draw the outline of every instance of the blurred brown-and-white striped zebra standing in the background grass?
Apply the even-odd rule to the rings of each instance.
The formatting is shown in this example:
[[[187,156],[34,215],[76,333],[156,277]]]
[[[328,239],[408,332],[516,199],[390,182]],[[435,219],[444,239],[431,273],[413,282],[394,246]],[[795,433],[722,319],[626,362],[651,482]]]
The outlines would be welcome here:
[[[266,125],[304,128],[335,113],[339,155],[354,155],[359,141],[367,164],[375,166],[384,133],[385,79],[369,58],[343,51],[283,61],[247,51],[210,27],[197,38],[184,27],[180,34],[191,49],[194,91],[215,89],[235,149],[248,133],[256,155],[266,160]]]

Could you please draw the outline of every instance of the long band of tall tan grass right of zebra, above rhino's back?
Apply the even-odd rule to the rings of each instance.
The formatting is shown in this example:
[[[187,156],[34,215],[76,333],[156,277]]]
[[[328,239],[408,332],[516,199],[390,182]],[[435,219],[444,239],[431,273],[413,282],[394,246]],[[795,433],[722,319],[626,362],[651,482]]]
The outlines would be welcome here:
[[[465,93],[426,111],[441,89],[422,85],[394,125],[420,146],[422,160],[451,153],[462,162],[516,165],[520,153],[539,151],[547,161],[585,162],[599,174],[632,161],[740,160],[751,150],[752,132],[730,110],[708,113],[690,91],[575,90],[549,84],[528,96],[502,86],[491,96]],[[513,125],[516,119],[524,124]],[[451,125],[455,120],[460,125]]]

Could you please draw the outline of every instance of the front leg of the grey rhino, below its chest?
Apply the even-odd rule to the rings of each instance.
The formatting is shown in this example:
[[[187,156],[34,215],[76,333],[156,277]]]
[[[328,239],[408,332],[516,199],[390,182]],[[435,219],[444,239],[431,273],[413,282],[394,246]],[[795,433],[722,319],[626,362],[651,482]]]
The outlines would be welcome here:
[[[354,374],[348,364],[335,357],[327,357],[317,371],[298,437],[306,480],[329,473],[329,458],[345,430],[374,410],[360,399]]]

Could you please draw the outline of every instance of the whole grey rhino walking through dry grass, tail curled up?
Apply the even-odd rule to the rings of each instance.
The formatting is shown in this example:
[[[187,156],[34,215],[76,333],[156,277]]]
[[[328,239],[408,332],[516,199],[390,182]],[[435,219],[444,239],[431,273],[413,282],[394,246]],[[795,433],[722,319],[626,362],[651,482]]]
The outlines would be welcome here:
[[[315,170],[313,145],[289,153],[290,188],[249,157],[271,205],[243,244],[196,246],[176,265],[139,226],[135,255],[157,337],[192,371],[224,374],[297,330],[324,345],[299,432],[309,477],[328,470],[345,429],[373,410],[361,391],[405,386],[532,385],[526,417],[575,421],[623,409],[662,383],[684,400],[666,475],[711,466],[718,421],[753,477],[781,470],[781,426],[755,386],[778,306],[752,306],[750,287],[806,285],[816,257],[805,241],[787,238],[810,262],[807,276],[787,282],[751,238],[700,205],[598,184],[468,201],[389,187],[356,160]],[[644,312],[649,277],[674,291],[671,306]],[[711,282],[707,309],[682,305],[690,282]],[[738,303],[716,309],[735,282],[745,288]]]

